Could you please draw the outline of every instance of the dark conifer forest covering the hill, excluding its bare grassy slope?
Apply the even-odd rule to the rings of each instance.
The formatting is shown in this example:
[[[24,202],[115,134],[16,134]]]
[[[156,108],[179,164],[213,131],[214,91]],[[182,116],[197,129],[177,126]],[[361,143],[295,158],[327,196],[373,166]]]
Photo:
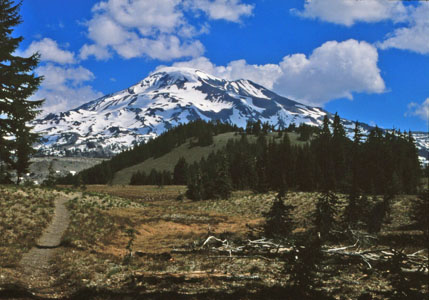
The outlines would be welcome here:
[[[156,139],[125,151],[78,175],[59,180],[67,184],[107,184],[113,174],[150,157],[160,157],[189,142],[207,146],[213,136],[236,132],[238,139],[188,164],[179,159],[174,171],[135,173],[132,185],[187,185],[193,200],[227,198],[233,190],[335,191],[355,194],[394,195],[417,192],[421,168],[411,133],[373,128],[367,135],[356,122],[353,139],[346,136],[338,115],[325,117],[321,128],[308,125],[275,129],[249,122],[245,129],[229,124],[195,121],[180,125]],[[304,144],[292,144],[288,132],[299,133]],[[249,136],[256,142],[249,142]]]

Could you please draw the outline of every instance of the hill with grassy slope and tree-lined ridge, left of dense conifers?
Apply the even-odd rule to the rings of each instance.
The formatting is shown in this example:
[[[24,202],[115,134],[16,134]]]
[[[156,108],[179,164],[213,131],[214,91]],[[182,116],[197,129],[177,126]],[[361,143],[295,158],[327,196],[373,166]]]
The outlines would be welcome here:
[[[268,123],[249,122],[246,128],[221,122],[196,120],[180,124],[144,144],[135,145],[109,160],[57,180],[58,184],[129,184],[131,176],[137,171],[149,173],[172,171],[180,157],[188,163],[199,161],[213,151],[225,147],[230,139],[238,139],[245,134],[250,143],[256,142],[256,136],[265,135],[268,139],[277,139],[289,132],[292,144],[299,142],[298,137],[308,139],[318,128],[301,125],[292,126],[281,133],[276,132]],[[153,183],[152,183],[153,184]]]

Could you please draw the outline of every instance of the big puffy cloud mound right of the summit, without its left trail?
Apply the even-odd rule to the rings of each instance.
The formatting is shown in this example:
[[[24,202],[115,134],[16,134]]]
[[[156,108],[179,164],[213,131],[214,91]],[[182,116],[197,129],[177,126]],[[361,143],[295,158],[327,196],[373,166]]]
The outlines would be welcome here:
[[[366,42],[329,41],[308,57],[284,57],[280,63],[283,75],[274,89],[316,105],[337,98],[352,99],[353,92],[382,93],[385,84],[377,62],[377,49]]]

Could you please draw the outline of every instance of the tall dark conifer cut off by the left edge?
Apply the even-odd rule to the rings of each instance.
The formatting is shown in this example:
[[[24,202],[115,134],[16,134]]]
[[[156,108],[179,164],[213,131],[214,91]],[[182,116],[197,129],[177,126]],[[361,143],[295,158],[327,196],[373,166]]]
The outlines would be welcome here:
[[[39,62],[39,55],[28,58],[14,55],[23,37],[13,37],[13,27],[22,22],[21,3],[0,1],[0,160],[17,172],[18,183],[29,167],[32,144],[38,136],[26,124],[39,113],[43,103],[27,100],[38,89],[42,77],[31,73]]]

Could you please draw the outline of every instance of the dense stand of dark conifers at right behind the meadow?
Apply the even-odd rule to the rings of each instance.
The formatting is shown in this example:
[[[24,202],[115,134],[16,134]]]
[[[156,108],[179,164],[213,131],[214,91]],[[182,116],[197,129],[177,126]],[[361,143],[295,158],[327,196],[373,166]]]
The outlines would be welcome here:
[[[421,169],[411,133],[378,127],[364,136],[356,122],[353,140],[340,117],[328,117],[305,145],[292,145],[279,131],[250,143],[242,134],[187,170],[188,197],[228,196],[232,190],[338,191],[366,194],[415,193]],[[216,187],[216,188],[214,188]]]

